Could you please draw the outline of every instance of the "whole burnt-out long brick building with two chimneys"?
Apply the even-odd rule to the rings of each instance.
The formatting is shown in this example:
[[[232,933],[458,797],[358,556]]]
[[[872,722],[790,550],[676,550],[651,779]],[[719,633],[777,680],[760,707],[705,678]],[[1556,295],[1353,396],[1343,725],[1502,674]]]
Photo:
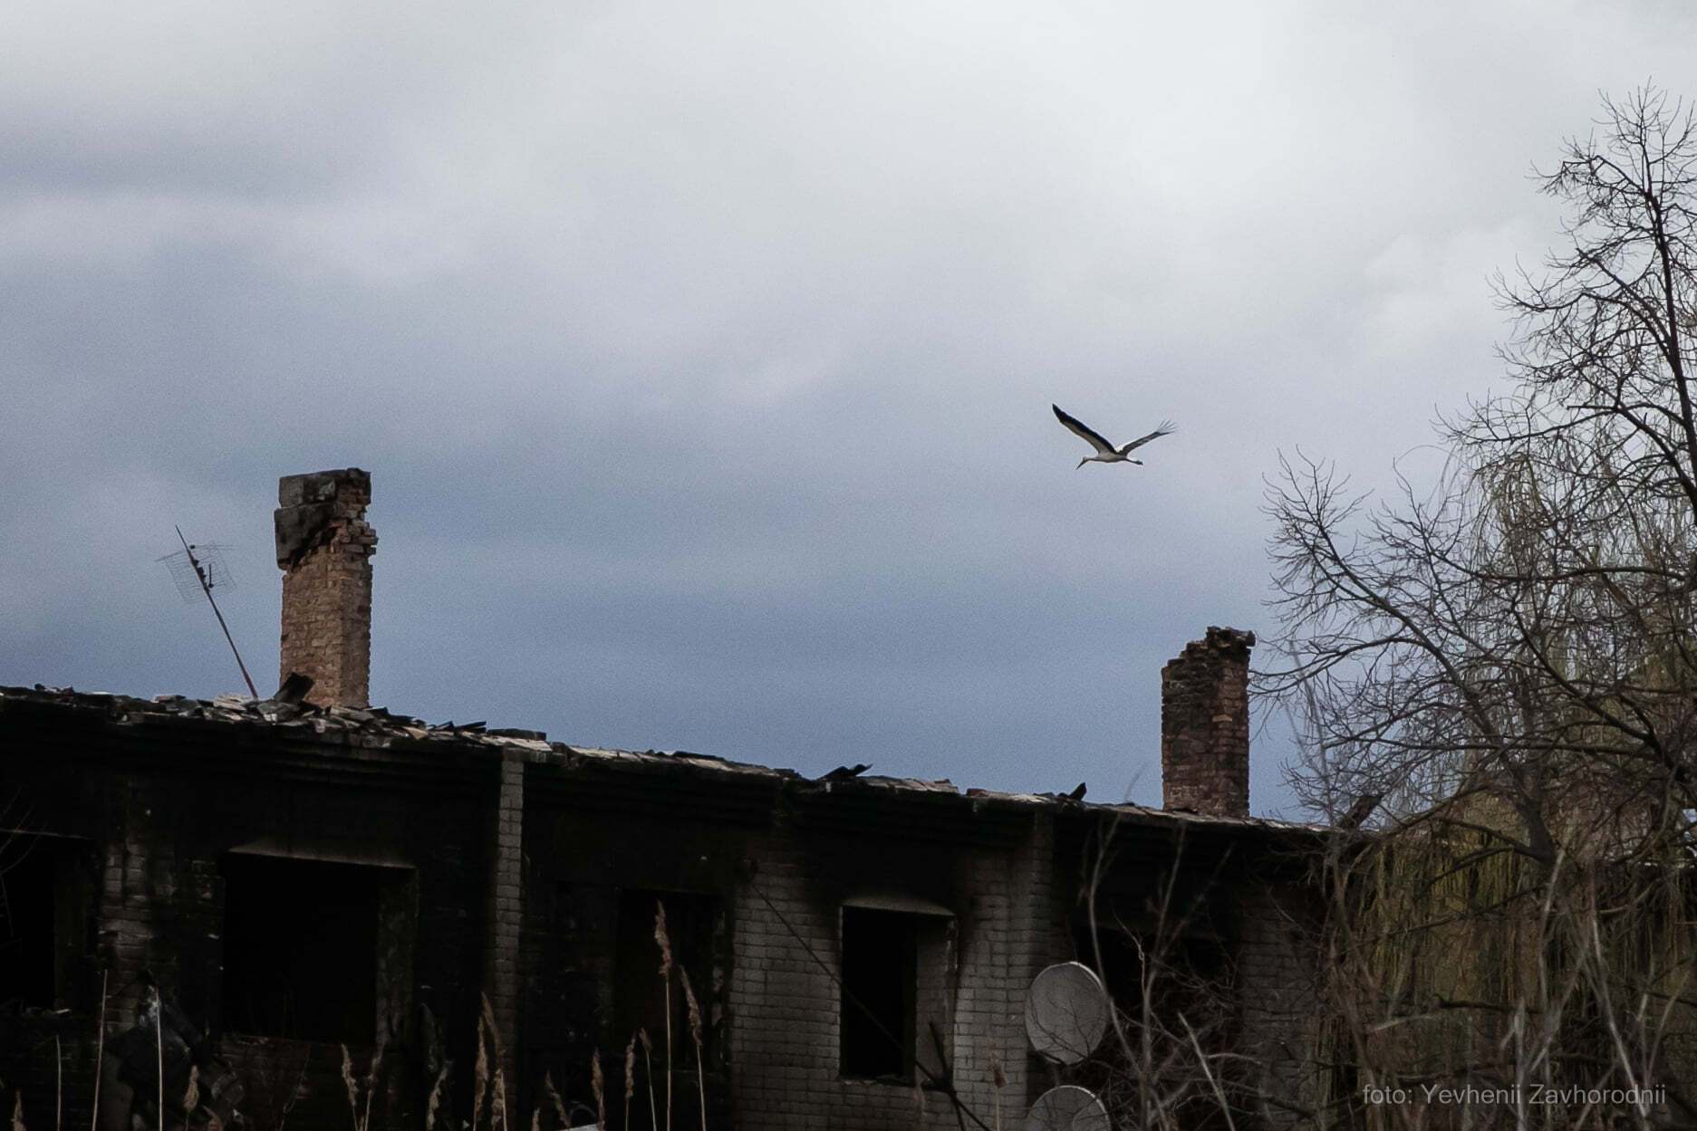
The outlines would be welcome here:
[[[512,1126],[562,1126],[548,1084],[592,1126],[597,1051],[611,1128],[650,1128],[650,1080],[679,1128],[697,1095],[742,1131],[1020,1126],[1108,1072],[1028,1051],[1033,975],[1100,951],[1125,1000],[1135,941],[1179,919],[1183,961],[1229,987],[1210,1039],[1254,1065],[1237,1126],[1300,1106],[1320,833],[1249,817],[1252,636],[1208,629],[1162,673],[1164,809],[431,726],[367,704],[368,502],[363,471],[282,480],[277,697],[0,688],[0,1095],[29,1126],[61,1100],[88,1126],[97,1034],[110,1065],[141,1021],[158,1055],[156,995],[266,1131],[348,1126],[344,1055],[370,1128],[470,1123],[480,1031]],[[153,1094],[127,1080],[109,1067],[104,1107]]]

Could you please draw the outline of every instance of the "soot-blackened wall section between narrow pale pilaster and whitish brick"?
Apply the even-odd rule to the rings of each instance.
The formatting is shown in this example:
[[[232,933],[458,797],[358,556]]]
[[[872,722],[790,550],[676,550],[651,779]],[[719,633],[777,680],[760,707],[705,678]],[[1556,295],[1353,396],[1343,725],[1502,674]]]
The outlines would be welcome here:
[[[618,773],[528,766],[519,1039],[524,1100],[545,1102],[552,1078],[567,1107],[594,1114],[591,1058],[608,1077],[609,1126],[624,1128],[624,1056],[635,1050],[636,1116],[648,1126],[648,1082],[665,1104],[665,1017],[672,1024],[674,1123],[731,1126],[731,978],[738,875],[772,821],[772,780],[704,785],[691,773]],[[672,975],[660,977],[655,904],[667,907]],[[703,1080],[680,970],[701,1011]],[[652,1065],[652,1072],[650,1072]]]

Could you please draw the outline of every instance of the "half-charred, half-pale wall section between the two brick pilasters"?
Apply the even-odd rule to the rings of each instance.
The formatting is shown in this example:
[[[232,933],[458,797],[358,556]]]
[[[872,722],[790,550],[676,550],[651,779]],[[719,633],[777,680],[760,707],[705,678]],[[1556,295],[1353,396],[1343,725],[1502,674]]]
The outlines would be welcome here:
[[[623,1065],[633,1021],[653,1041],[664,1111],[664,1033],[652,902],[667,907],[677,965],[703,1009],[711,1128],[915,1126],[915,1078],[854,1078],[843,1063],[845,905],[911,916],[925,953],[911,977],[911,1053],[944,1060],[989,1121],[998,1090],[1023,1111],[1025,985],[1042,967],[1045,824],[1030,811],[972,812],[957,795],[903,799],[872,787],[779,790],[770,780],[635,778],[531,766],[521,982],[524,1078],[546,1073],[568,1109],[592,1111],[589,1063],[608,1078],[609,1126],[623,1129]],[[920,946],[920,943],[915,943]],[[675,975],[674,975],[675,978]],[[674,989],[675,994],[675,989]],[[647,997],[647,1011],[628,1006]],[[675,1112],[696,1126],[694,1053],[674,1012]],[[921,1073],[923,1077],[923,1073]],[[635,1114],[648,1128],[650,1073],[636,1048]],[[954,1128],[942,1092],[925,1126]],[[538,1099],[531,1095],[531,1099]],[[674,1116],[674,1121],[677,1114]]]

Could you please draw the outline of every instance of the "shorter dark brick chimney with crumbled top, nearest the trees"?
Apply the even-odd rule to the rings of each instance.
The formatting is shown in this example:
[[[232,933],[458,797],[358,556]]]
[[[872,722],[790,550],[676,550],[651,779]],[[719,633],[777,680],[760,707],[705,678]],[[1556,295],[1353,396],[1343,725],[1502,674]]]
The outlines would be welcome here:
[[[1210,627],[1161,668],[1166,809],[1249,816],[1249,649],[1256,634]]]

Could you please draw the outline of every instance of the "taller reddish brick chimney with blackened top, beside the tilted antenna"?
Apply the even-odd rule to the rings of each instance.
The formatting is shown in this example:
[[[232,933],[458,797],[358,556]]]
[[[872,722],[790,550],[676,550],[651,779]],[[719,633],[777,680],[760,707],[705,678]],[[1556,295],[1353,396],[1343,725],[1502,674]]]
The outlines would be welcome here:
[[[305,699],[365,707],[372,675],[372,476],[360,468],[277,482],[277,568],[283,571],[280,678],[312,678]]]

